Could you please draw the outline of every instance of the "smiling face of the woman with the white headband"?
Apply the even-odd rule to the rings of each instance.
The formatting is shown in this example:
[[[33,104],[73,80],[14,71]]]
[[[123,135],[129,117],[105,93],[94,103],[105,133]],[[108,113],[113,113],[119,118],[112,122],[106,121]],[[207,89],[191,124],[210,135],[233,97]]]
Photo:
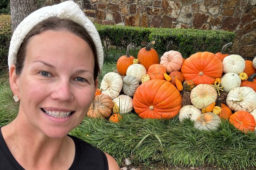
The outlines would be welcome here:
[[[67,135],[81,123],[94,98],[93,70],[92,50],[77,35],[45,31],[33,36],[21,74],[10,71],[20,116],[49,137]]]

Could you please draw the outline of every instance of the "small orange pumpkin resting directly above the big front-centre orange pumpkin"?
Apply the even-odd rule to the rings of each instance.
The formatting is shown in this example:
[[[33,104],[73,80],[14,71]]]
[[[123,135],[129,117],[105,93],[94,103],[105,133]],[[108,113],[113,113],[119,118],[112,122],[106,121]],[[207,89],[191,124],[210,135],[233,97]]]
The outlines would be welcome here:
[[[149,66],[147,74],[150,79],[161,79],[164,80],[164,73],[166,73],[166,68],[161,64],[152,64]]]

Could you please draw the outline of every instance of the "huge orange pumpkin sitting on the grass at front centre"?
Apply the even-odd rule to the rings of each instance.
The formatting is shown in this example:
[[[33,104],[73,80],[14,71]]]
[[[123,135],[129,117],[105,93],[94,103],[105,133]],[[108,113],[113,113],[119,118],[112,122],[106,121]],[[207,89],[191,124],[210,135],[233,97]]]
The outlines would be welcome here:
[[[166,80],[148,80],[142,83],[133,96],[133,108],[141,118],[170,119],[178,115],[181,95]]]

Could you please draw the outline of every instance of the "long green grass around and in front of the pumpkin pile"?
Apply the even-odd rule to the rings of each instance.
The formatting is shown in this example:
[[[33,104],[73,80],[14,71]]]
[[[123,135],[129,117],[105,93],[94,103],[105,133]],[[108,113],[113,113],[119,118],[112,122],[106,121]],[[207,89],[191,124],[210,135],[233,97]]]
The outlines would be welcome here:
[[[116,69],[119,52],[112,50],[104,62],[104,74]],[[0,78],[0,126],[13,120],[18,104],[12,98],[8,77]],[[228,121],[222,120],[215,131],[200,131],[194,122],[142,119],[133,113],[122,115],[120,123],[108,119],[85,117],[81,125],[70,132],[112,155],[121,165],[125,158],[145,167],[182,165],[200,167],[206,164],[224,169],[256,167],[256,133],[244,134]]]

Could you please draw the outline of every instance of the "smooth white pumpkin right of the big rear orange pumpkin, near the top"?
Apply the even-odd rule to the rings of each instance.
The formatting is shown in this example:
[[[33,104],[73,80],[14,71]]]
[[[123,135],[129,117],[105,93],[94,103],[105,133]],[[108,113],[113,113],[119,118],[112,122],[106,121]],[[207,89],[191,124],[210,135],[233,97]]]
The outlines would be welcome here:
[[[223,73],[237,73],[239,75],[245,68],[245,61],[243,57],[236,54],[225,57],[222,64]]]

